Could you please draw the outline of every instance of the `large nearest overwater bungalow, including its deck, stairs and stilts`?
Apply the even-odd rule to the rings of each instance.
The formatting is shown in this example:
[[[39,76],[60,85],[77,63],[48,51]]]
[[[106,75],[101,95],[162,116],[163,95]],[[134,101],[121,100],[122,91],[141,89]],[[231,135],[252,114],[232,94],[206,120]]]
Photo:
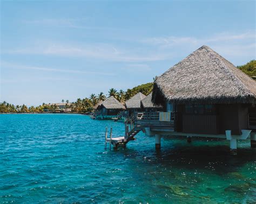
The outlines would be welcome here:
[[[156,137],[156,149],[162,136],[186,137],[187,142],[223,138],[236,154],[237,139],[251,133],[251,147],[256,147],[256,82],[210,47],[200,47],[157,77],[152,103],[164,111],[131,118],[128,141],[143,129]]]

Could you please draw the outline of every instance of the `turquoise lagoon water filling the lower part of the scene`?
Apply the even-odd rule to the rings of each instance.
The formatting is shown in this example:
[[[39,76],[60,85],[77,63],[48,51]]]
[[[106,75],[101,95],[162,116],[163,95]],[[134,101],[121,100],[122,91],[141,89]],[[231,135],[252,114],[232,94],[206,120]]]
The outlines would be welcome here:
[[[154,138],[104,150],[104,127],[73,114],[0,115],[0,202],[253,203],[256,150],[239,141]]]

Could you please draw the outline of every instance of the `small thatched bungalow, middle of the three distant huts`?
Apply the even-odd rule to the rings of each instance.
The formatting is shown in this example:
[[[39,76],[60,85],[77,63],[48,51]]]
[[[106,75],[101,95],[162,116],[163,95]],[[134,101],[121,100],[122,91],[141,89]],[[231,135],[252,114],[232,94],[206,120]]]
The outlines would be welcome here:
[[[129,114],[132,112],[142,111],[141,101],[145,99],[145,95],[143,93],[137,93],[131,97],[131,99],[125,102],[126,110],[129,111]]]

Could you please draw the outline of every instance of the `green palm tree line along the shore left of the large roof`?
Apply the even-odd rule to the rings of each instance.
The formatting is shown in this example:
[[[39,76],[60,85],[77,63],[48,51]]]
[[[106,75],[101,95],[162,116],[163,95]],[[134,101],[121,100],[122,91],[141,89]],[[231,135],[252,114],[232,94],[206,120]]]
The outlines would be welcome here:
[[[132,96],[141,92],[144,95],[149,95],[152,92],[153,83],[145,83],[139,85],[132,89],[127,89],[124,92],[122,89],[117,90],[111,88],[107,95],[104,95],[103,92],[100,92],[98,95],[91,94],[90,97],[85,97],[85,99],[77,99],[75,102],[69,103],[69,100],[62,100],[62,103],[65,104],[65,109],[70,109],[72,112],[91,112],[93,106],[96,105],[99,101],[104,101],[106,97],[113,96],[119,102],[124,103],[125,101],[131,99]],[[14,105],[7,103],[6,101],[0,103],[0,112],[45,112],[45,111],[55,112],[58,111],[56,104],[46,104],[38,105],[37,107],[31,106],[27,107],[23,105]]]

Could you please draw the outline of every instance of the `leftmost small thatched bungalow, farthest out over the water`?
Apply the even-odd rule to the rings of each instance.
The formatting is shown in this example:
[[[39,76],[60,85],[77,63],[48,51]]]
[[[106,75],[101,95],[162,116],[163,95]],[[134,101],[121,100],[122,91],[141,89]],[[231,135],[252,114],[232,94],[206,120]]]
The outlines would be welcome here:
[[[113,96],[110,96],[97,107],[94,119],[117,118],[119,112],[123,110],[125,110],[124,105],[122,105]]]

